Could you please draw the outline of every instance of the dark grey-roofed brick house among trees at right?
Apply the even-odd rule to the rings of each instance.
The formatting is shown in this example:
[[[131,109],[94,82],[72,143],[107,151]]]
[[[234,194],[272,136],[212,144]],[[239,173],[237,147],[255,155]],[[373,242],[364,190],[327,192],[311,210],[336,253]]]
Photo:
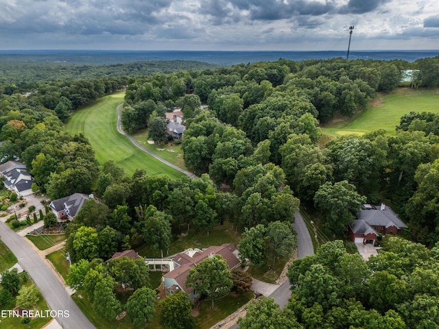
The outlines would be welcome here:
[[[375,244],[379,234],[396,235],[405,228],[405,223],[385,204],[379,208],[364,204],[357,213],[357,219],[349,226],[349,234],[354,243]]]

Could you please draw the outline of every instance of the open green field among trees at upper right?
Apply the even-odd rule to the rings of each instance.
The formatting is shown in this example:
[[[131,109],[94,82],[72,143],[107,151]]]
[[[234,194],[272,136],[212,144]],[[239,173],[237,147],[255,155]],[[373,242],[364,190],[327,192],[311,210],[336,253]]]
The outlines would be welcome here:
[[[383,129],[394,135],[395,127],[404,114],[411,111],[439,113],[438,103],[438,89],[398,88],[390,94],[377,95],[367,110],[346,121],[329,123],[322,127],[322,132],[329,136],[342,136]]]

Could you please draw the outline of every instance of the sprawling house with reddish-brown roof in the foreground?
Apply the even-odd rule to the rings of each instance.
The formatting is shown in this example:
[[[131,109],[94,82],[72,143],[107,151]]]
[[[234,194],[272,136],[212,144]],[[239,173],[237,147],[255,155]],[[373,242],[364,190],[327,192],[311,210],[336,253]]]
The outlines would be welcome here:
[[[176,256],[172,258],[173,264],[171,267],[174,267],[174,269],[162,277],[163,288],[167,295],[181,290],[189,295],[190,300],[199,297],[199,294],[194,291],[193,288],[186,287],[187,275],[189,274],[191,267],[214,255],[222,256],[224,260],[226,260],[230,271],[241,266],[241,262],[238,258],[238,250],[231,243],[226,243],[220,246],[211,246],[204,250],[187,249],[184,252],[180,252],[180,254],[176,254]]]

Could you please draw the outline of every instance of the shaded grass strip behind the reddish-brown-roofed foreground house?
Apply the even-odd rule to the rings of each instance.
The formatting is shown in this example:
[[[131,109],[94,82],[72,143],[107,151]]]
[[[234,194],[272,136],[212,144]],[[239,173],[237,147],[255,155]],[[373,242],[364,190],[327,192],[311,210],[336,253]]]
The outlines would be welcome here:
[[[222,226],[217,226],[209,232],[200,232],[195,229],[189,230],[187,236],[178,236],[174,241],[171,242],[171,247],[169,248],[169,255],[178,254],[188,248],[207,248],[211,245],[222,245],[224,243],[233,243],[237,245],[240,239],[240,234],[233,230],[232,225],[228,222],[224,223]],[[160,258],[160,251],[155,252],[151,250],[147,245],[141,245],[134,248],[139,255],[145,258]],[[165,256],[165,253],[164,255]]]

